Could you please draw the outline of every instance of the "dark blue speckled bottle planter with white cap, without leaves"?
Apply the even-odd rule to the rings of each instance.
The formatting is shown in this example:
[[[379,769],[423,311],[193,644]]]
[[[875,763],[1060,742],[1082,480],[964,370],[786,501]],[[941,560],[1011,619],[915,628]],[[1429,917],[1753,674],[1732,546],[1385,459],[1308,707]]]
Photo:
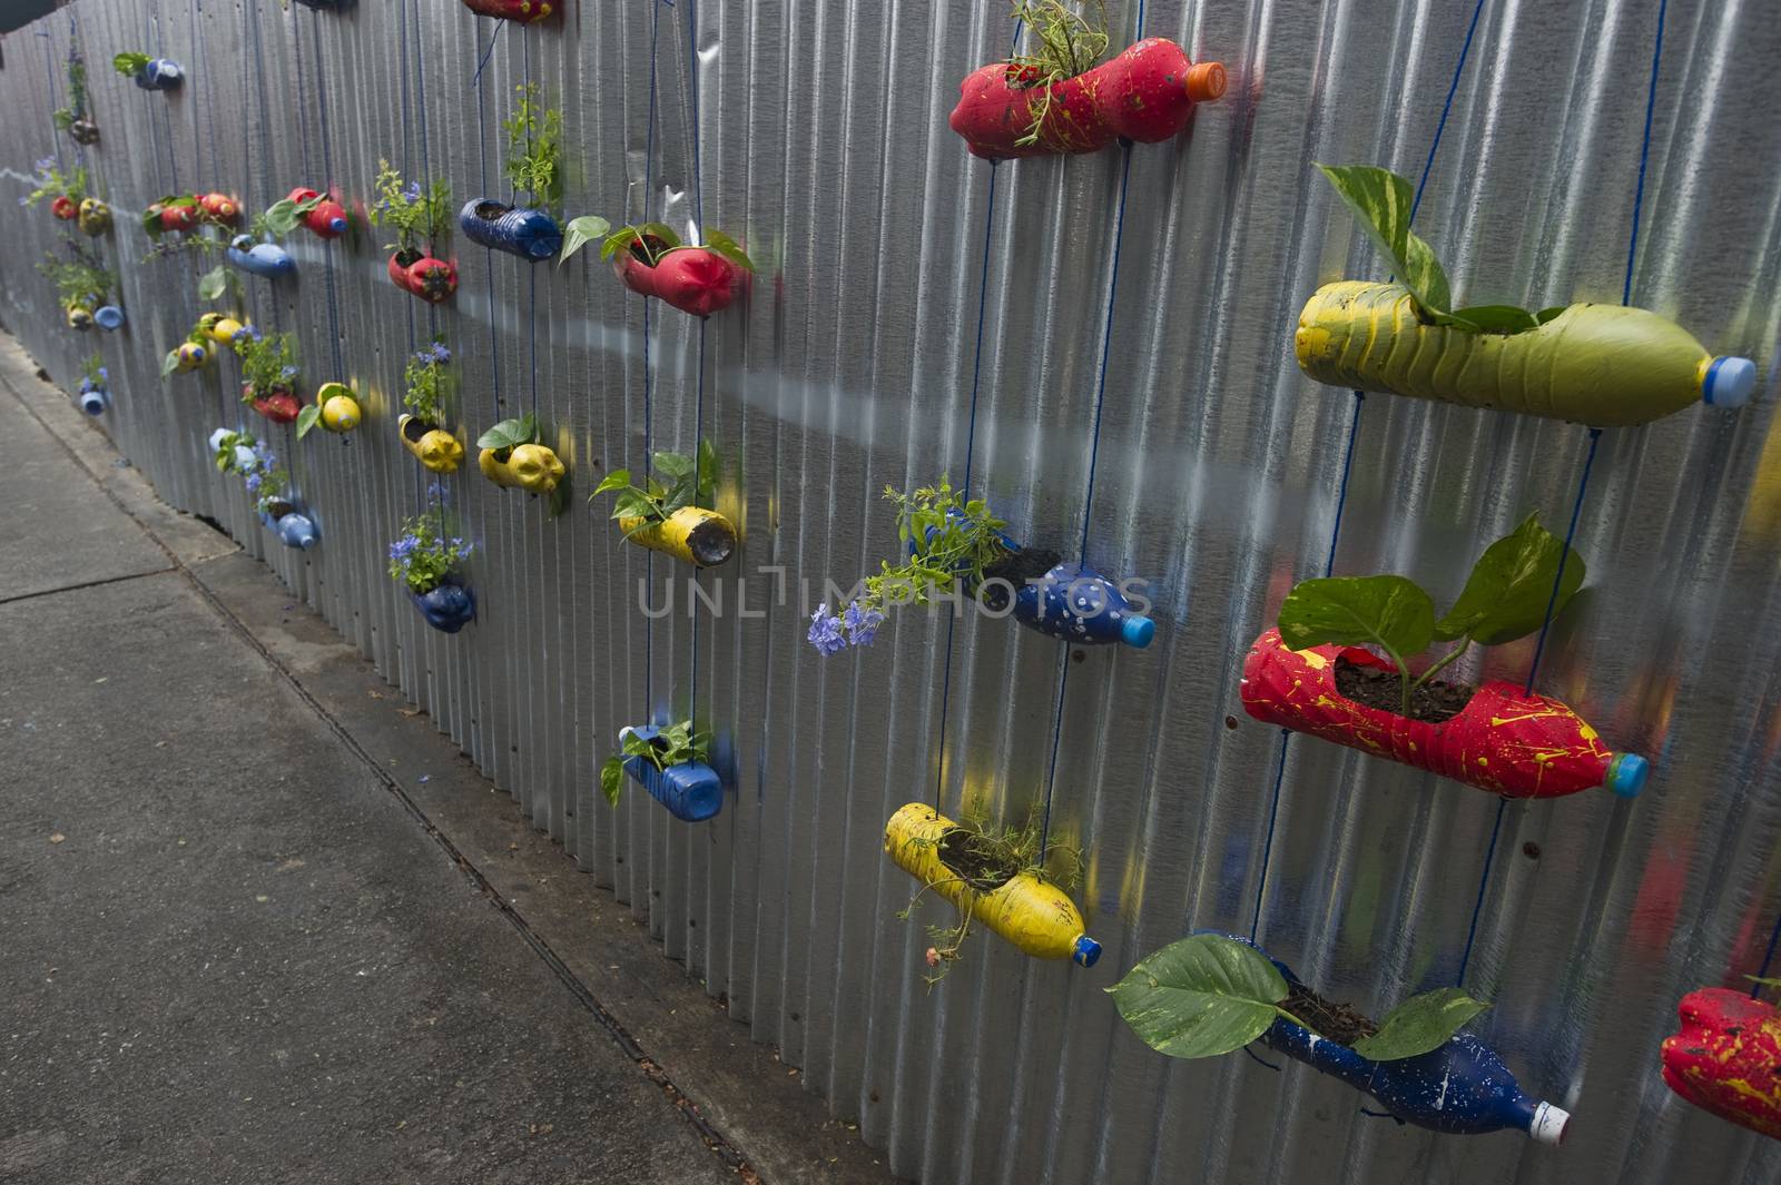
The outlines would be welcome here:
[[[1245,941],[1236,934],[1227,938]],[[1304,986],[1279,959],[1273,959],[1273,966],[1288,984]],[[1295,1062],[1371,1094],[1395,1119],[1430,1132],[1484,1135],[1517,1128],[1541,1144],[1558,1144],[1571,1121],[1565,1110],[1523,1094],[1503,1060],[1466,1032],[1455,1034],[1441,1048],[1391,1062],[1368,1060],[1284,1018],[1277,1018],[1261,1034],[1261,1041]]]

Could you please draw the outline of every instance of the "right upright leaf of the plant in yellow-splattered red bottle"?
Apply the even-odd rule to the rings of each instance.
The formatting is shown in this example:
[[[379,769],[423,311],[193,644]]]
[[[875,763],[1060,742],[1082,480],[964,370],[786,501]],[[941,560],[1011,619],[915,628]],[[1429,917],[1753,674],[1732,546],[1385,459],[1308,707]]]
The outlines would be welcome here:
[[[1526,521],[1484,550],[1453,609],[1435,623],[1434,635],[1443,642],[1471,637],[1485,646],[1501,646],[1533,633],[1546,621],[1548,605],[1557,617],[1583,587],[1583,560],[1571,552],[1564,560],[1558,600],[1553,601],[1553,580],[1564,555],[1564,541],[1541,527],[1539,514],[1528,514]]]

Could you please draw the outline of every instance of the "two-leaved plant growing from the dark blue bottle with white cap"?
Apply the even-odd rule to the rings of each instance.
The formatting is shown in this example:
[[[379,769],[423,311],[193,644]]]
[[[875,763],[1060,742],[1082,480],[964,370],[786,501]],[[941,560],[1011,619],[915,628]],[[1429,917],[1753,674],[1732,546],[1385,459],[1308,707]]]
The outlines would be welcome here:
[[[1138,1039],[1168,1057],[1231,1053],[1286,1020],[1368,1060],[1395,1062],[1441,1048],[1491,1007],[1459,988],[1441,988],[1411,996],[1373,1025],[1302,984],[1288,984],[1273,959],[1224,934],[1174,941],[1106,991]]]

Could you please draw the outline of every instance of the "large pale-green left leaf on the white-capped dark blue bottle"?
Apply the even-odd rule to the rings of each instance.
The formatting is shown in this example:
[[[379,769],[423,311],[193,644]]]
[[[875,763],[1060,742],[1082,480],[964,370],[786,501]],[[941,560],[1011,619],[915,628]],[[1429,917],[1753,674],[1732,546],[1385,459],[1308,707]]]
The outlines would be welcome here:
[[[1108,988],[1138,1039],[1170,1057],[1216,1057],[1268,1030],[1286,979],[1247,943],[1195,934],[1170,943]]]

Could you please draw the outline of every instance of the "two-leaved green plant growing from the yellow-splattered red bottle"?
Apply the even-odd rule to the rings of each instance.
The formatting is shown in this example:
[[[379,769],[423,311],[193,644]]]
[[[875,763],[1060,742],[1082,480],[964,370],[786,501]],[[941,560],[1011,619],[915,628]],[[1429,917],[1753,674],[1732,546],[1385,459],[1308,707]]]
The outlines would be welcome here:
[[[1564,582],[1553,594],[1558,569]],[[1293,585],[1281,603],[1281,637],[1293,649],[1311,646],[1377,646],[1398,667],[1400,715],[1411,715],[1412,696],[1476,642],[1503,646],[1526,637],[1553,617],[1583,585],[1583,560],[1528,518],[1478,557],[1453,609],[1435,621],[1434,598],[1405,576],[1323,576]],[[1412,658],[1435,641],[1459,642],[1421,674]],[[1423,708],[1423,705],[1418,705]]]

